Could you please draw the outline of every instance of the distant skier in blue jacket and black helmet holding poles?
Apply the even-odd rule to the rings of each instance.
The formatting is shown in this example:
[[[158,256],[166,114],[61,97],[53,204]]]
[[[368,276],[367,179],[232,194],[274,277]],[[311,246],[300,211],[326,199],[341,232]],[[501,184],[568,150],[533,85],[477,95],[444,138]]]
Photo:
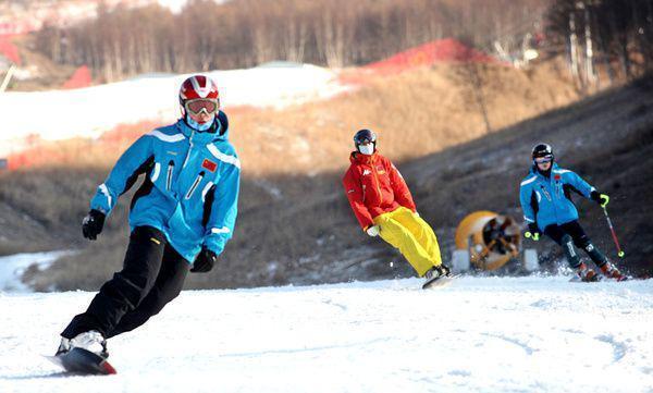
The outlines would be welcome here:
[[[521,182],[519,199],[523,219],[528,223],[525,236],[534,242],[542,233],[563,247],[567,261],[583,281],[596,281],[594,270],[580,260],[576,247],[582,248],[606,277],[626,279],[617,268],[596,248],[578,222],[578,210],[571,193],[592,199],[602,207],[609,197],[600,194],[578,174],[562,169],[554,162],[553,149],[539,144],[532,150],[532,168]]]

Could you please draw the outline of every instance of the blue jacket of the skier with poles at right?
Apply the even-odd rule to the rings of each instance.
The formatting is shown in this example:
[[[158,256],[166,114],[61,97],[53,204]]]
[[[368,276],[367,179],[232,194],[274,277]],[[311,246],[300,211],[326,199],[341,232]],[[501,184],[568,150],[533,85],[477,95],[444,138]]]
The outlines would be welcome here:
[[[578,174],[553,164],[551,175],[545,177],[532,168],[521,182],[519,200],[523,219],[537,222],[541,231],[549,225],[562,225],[578,220],[578,210],[571,200],[571,192],[590,197],[594,187]]]

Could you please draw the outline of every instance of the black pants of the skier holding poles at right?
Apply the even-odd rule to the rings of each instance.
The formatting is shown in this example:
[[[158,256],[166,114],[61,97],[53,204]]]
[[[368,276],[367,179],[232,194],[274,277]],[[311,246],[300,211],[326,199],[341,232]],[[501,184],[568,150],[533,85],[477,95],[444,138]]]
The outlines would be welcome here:
[[[574,269],[580,267],[580,257],[574,245],[583,249],[597,267],[602,267],[607,262],[607,258],[592,244],[592,241],[576,220],[562,225],[549,225],[544,229],[544,234],[563,247],[567,261]]]

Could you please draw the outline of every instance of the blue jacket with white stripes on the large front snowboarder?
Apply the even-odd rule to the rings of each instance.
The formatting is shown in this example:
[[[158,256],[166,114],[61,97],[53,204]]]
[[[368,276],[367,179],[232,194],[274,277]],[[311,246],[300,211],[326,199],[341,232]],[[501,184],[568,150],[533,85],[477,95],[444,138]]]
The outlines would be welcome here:
[[[130,226],[153,226],[189,263],[201,246],[222,253],[237,214],[241,161],[227,140],[229,121],[219,112],[215,132],[197,132],[180,119],[138,138],[118,160],[90,201],[109,214],[139,174]]]

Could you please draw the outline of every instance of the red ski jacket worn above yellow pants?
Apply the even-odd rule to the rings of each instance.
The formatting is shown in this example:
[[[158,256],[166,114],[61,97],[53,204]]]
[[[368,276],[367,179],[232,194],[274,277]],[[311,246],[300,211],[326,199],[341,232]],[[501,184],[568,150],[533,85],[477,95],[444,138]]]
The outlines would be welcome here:
[[[399,206],[416,211],[404,177],[387,158],[378,152],[366,156],[354,151],[349,160],[352,165],[343,177],[343,185],[364,231],[374,224],[377,216]]]

